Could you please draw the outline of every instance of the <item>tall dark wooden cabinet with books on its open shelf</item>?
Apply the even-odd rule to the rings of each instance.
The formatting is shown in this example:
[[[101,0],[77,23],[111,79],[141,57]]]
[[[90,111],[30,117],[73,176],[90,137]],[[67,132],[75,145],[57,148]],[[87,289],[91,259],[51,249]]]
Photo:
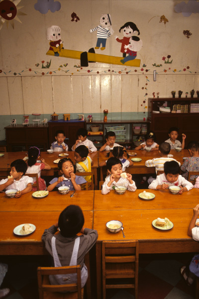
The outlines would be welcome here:
[[[159,113],[160,108],[166,102],[168,113]],[[160,144],[169,138],[168,131],[171,127],[179,128],[178,140],[182,143],[182,134],[186,134],[185,146],[190,141],[199,140],[199,112],[190,112],[192,110],[197,111],[197,105],[199,104],[199,98],[149,98],[148,106],[151,107],[151,115],[149,117],[151,121],[151,131],[156,134],[157,143]],[[182,112],[172,113],[174,105],[182,107]],[[183,112],[183,107],[187,105],[188,112]]]

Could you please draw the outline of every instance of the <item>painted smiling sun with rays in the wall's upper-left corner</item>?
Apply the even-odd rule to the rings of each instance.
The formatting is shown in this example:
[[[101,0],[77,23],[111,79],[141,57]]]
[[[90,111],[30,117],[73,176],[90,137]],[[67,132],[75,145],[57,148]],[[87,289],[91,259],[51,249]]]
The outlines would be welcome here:
[[[4,22],[8,27],[10,23],[12,28],[14,29],[14,19],[21,23],[20,19],[17,15],[26,15],[26,13],[22,11],[18,11],[23,6],[18,6],[18,3],[21,0],[1,0],[0,1],[0,29],[2,28]]]

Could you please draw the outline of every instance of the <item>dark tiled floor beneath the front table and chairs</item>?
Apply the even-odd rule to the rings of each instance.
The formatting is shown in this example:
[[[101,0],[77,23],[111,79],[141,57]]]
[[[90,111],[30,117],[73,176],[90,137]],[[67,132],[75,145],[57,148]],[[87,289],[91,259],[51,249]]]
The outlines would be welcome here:
[[[188,287],[180,275],[180,267],[188,265],[193,254],[140,255],[139,299],[193,299],[195,284]],[[36,269],[47,266],[47,257],[0,257],[8,264],[4,288],[6,299],[38,299]],[[134,299],[133,292],[111,291],[107,299]],[[94,296],[94,299],[96,296]]]

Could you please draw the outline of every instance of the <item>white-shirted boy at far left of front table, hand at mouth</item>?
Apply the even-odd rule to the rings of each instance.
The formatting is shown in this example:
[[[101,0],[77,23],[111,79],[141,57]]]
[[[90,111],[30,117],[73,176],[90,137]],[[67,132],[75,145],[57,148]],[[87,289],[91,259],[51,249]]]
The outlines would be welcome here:
[[[18,198],[22,194],[32,191],[33,178],[27,175],[26,170],[28,168],[26,162],[22,159],[17,159],[10,164],[10,177],[1,179],[0,191],[17,189],[18,192],[14,197]]]

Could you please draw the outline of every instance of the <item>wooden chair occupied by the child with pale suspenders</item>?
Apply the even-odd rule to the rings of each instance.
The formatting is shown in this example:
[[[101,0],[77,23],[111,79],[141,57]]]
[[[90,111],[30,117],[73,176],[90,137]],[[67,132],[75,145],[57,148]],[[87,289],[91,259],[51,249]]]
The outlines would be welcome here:
[[[49,275],[77,273],[77,283],[68,285],[51,285]],[[39,299],[82,299],[84,288],[81,288],[81,266],[38,267],[37,279]],[[73,292],[73,293],[59,293]]]

